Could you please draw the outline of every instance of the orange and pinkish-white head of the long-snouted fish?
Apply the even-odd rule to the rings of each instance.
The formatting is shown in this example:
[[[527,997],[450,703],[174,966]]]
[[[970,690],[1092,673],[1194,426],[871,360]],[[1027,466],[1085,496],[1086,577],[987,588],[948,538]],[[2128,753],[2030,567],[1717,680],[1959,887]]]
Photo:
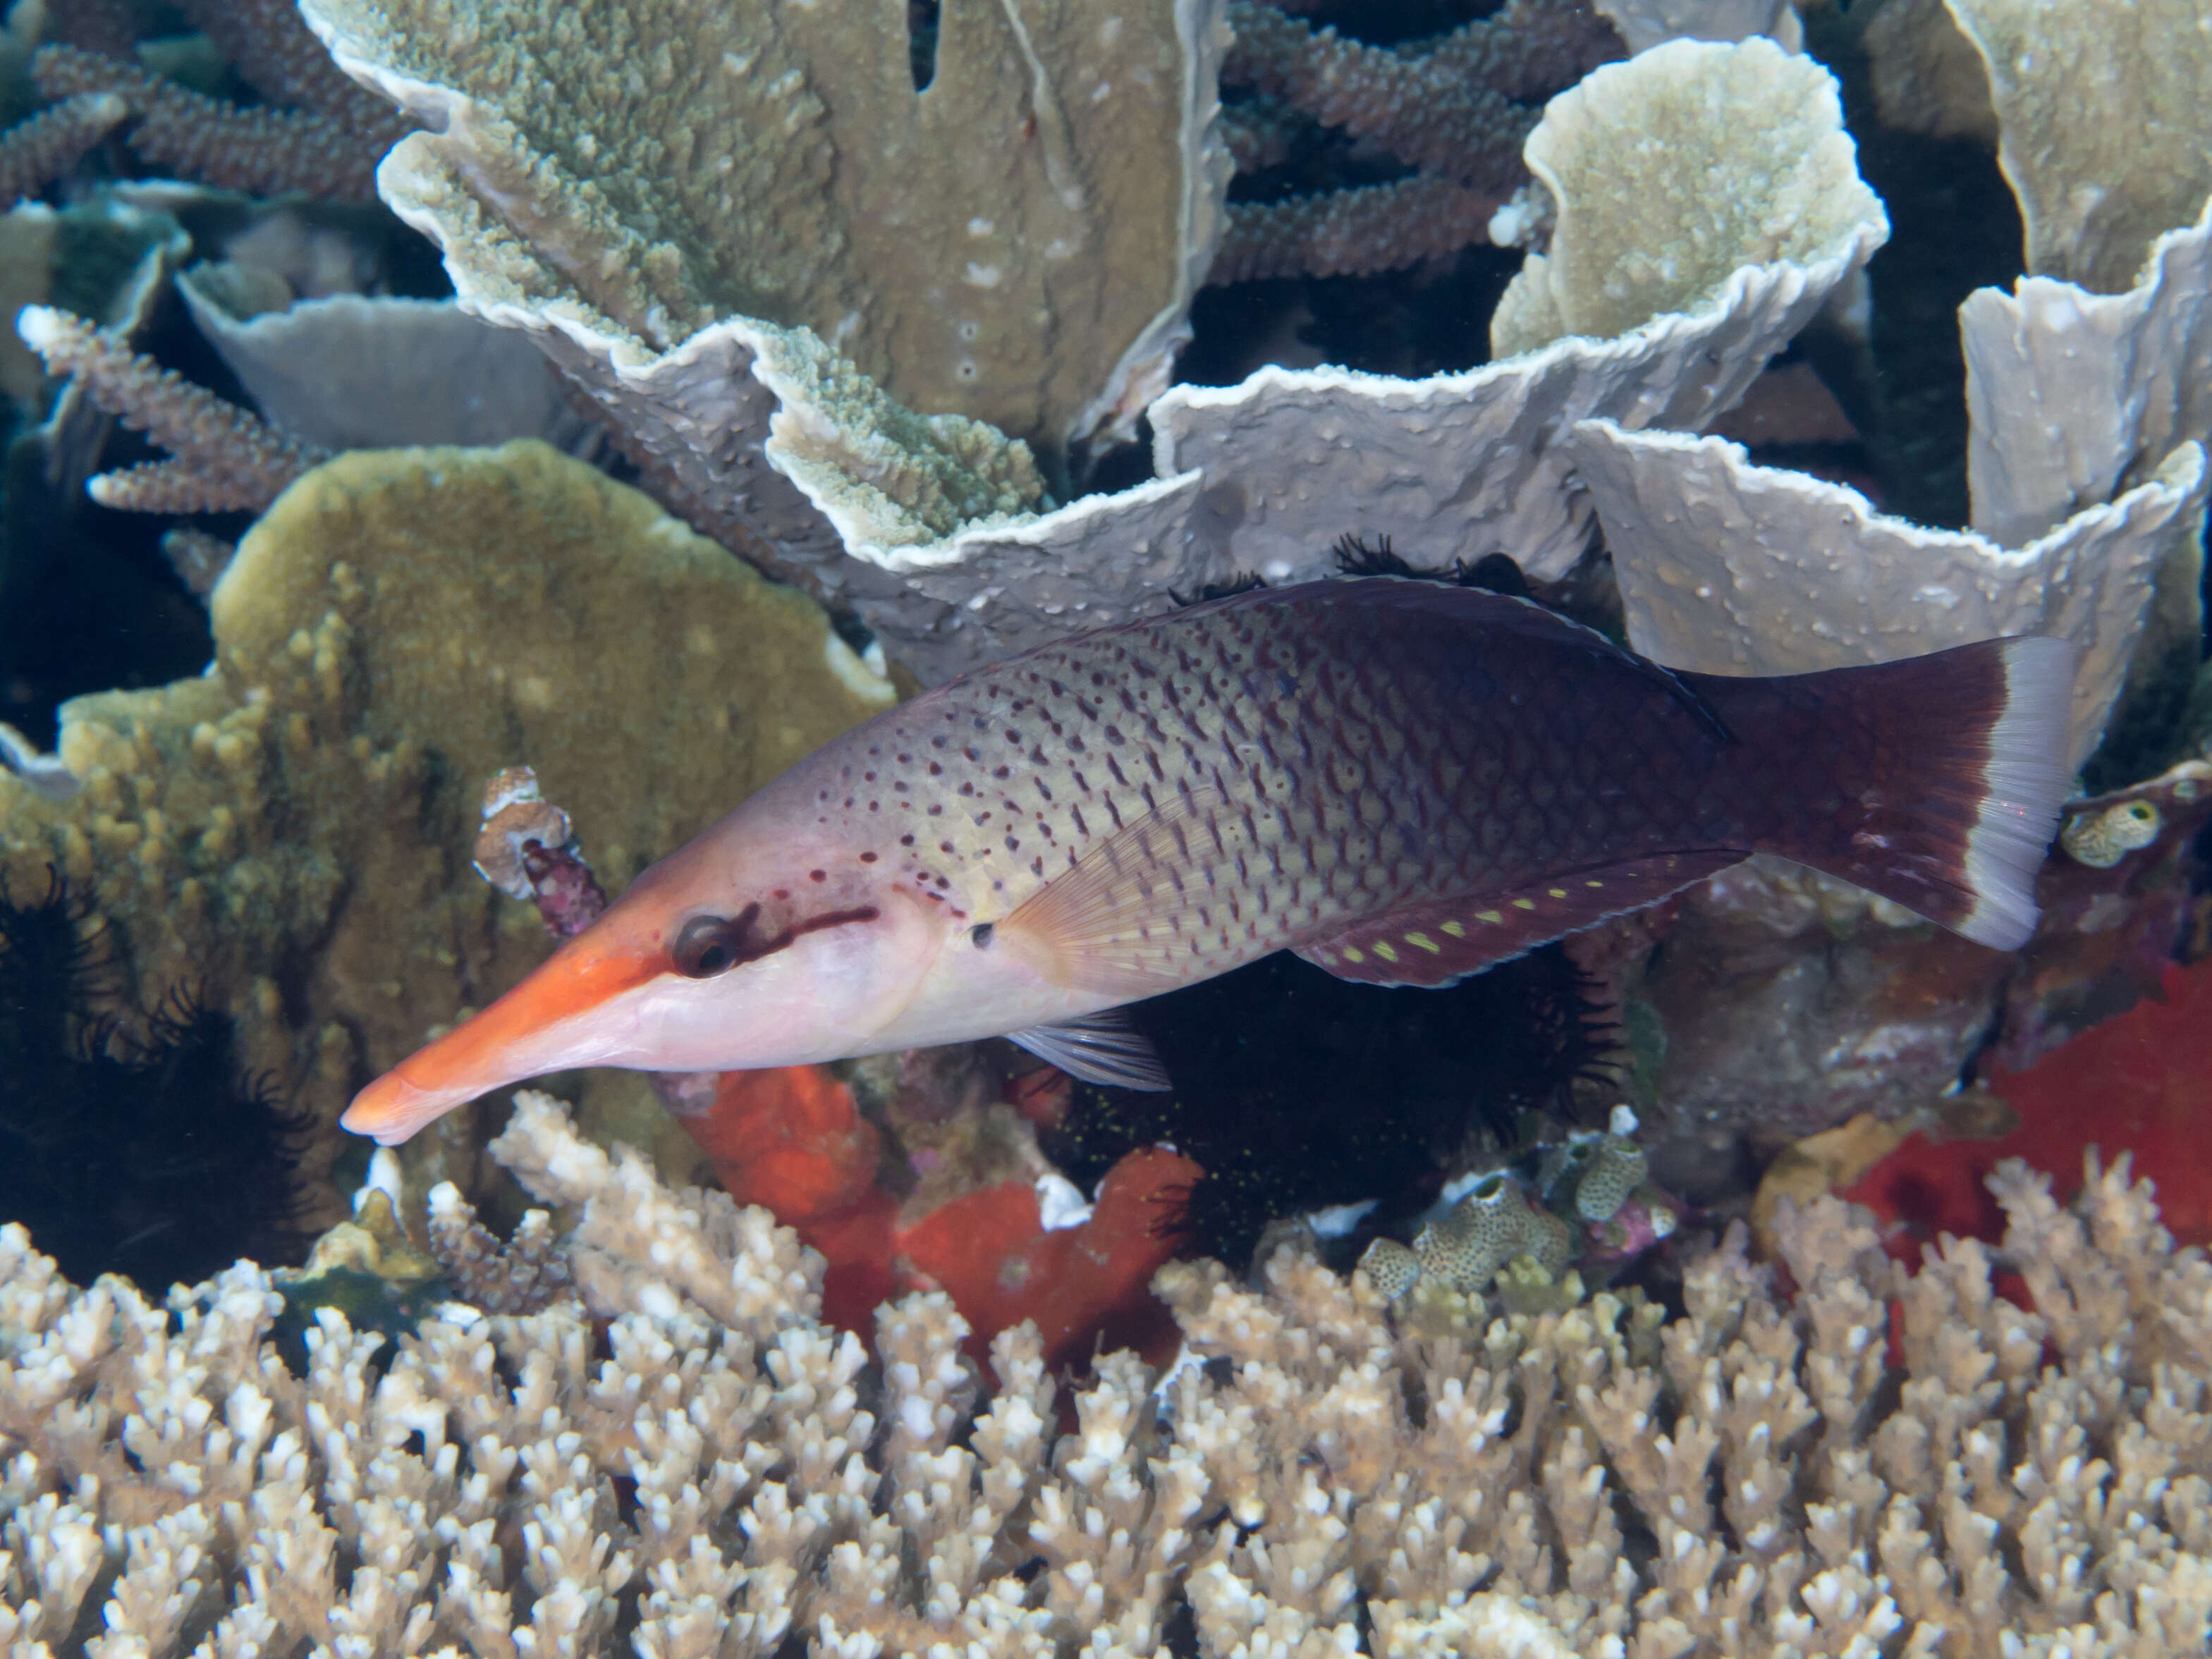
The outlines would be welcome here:
[[[343,1124],[385,1146],[462,1102],[575,1066],[745,1071],[872,1053],[947,938],[914,894],[726,821],[476,1018],[409,1055]],[[765,838],[763,838],[765,841]]]

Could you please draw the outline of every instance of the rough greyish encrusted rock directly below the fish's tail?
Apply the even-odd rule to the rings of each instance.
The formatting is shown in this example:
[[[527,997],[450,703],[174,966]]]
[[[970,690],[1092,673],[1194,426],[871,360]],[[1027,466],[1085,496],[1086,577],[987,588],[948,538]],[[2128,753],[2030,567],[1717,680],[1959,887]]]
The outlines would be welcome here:
[[[2013,956],[1770,858],[1571,940],[1621,1024],[1626,1093],[1668,1183],[1694,1197],[1743,1152],[1763,1164],[1860,1113],[1911,1119],[1978,1064],[2026,1068],[2159,995],[2201,887],[2212,768],[2183,761],[2077,816],[2130,803],[2157,812],[2157,838],[2108,867],[2046,863],[2042,922]]]

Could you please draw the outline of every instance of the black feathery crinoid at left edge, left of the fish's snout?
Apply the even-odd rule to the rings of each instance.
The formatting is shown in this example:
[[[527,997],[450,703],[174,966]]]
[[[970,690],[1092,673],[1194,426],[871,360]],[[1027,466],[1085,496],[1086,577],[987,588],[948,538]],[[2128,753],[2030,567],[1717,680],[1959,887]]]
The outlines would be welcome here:
[[[55,874],[29,902],[0,883],[0,1221],[80,1285],[294,1259],[303,1119],[241,1075],[228,1015],[188,991],[133,1009],[117,980]]]

